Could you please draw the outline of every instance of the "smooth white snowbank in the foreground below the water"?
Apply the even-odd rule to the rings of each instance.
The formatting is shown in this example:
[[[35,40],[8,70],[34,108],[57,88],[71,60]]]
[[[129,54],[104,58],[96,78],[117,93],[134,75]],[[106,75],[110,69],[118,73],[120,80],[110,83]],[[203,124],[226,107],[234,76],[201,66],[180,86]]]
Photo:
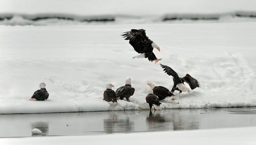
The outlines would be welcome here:
[[[131,144],[174,144],[174,145],[254,145],[256,128],[232,128],[197,131],[163,131],[150,133],[126,133],[88,136],[51,136],[2,138],[1,145],[45,145],[57,143],[112,145],[113,143]],[[124,142],[124,139],[125,142]]]

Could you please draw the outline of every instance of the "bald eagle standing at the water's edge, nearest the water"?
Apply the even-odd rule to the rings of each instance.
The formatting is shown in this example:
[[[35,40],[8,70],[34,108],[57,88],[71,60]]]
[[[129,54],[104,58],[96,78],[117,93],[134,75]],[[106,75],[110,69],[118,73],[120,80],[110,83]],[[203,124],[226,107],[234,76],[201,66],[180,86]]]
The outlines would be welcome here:
[[[159,99],[156,95],[154,95],[153,90],[151,88],[148,89],[148,95],[146,96],[146,102],[149,105],[149,108],[151,110],[152,105],[154,106],[155,110],[161,110],[161,106],[159,102]]]

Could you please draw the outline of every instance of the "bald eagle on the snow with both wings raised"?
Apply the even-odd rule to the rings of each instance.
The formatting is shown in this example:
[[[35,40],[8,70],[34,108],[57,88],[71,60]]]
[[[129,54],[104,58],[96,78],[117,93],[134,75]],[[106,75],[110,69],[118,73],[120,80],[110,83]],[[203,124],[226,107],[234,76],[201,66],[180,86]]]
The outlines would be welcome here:
[[[174,92],[175,90],[178,90],[179,94],[181,92],[190,92],[190,89],[184,85],[184,82],[188,83],[191,89],[200,87],[200,83],[191,75],[186,74],[184,77],[179,77],[178,74],[172,68],[162,64],[160,64],[160,66],[163,68],[163,71],[165,71],[165,73],[173,76],[174,86],[171,92]]]

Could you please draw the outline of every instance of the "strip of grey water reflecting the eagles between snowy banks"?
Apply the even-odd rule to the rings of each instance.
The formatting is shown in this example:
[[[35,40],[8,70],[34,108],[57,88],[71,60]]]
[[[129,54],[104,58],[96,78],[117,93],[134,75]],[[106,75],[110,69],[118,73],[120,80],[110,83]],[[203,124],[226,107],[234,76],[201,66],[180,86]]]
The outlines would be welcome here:
[[[256,108],[0,115],[0,137],[92,135],[256,126]]]

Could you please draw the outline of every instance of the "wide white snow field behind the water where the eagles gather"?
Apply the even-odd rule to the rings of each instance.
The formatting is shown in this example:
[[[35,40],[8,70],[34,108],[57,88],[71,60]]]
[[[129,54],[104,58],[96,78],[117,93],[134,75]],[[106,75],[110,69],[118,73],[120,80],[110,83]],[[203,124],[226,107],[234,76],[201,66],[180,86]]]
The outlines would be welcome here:
[[[162,108],[256,106],[255,24],[0,26],[0,113],[148,109],[147,83],[173,86],[160,63],[181,77],[191,74],[201,84],[176,101],[163,100]],[[158,64],[132,59],[138,54],[120,36],[141,28],[160,46],[160,52],[154,50],[163,58]],[[108,83],[115,90],[129,77],[135,88],[130,102],[111,106],[103,101]],[[48,100],[29,101],[41,82]]]

